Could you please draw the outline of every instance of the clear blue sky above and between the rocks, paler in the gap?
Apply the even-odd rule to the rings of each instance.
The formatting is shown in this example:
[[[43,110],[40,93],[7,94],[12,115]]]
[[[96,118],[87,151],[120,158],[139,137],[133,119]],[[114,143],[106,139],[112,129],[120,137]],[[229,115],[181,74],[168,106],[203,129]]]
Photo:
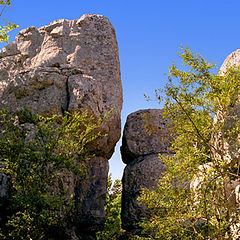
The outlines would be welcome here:
[[[165,84],[168,66],[177,61],[180,44],[220,66],[240,48],[239,0],[12,0],[4,17],[21,29],[40,27],[53,20],[102,14],[113,24],[119,45],[123,84],[122,127],[129,113],[159,108],[143,94]],[[110,160],[113,178],[124,165],[119,143]]]

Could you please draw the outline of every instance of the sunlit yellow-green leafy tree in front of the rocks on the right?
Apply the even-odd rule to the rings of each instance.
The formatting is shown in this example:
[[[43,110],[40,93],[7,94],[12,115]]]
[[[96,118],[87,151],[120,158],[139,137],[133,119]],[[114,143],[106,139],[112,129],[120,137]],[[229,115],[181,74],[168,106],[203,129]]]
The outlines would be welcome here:
[[[156,90],[172,120],[175,155],[159,156],[167,170],[139,197],[152,215],[136,239],[239,239],[240,67],[216,74],[188,48],[179,56],[183,67],[173,64]]]

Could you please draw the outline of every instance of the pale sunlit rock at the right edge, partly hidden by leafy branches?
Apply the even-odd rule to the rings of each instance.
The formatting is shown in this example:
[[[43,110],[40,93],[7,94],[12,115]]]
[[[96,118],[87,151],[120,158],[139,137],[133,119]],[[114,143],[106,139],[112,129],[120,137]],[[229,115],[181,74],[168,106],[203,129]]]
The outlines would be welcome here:
[[[240,65],[240,49],[229,54],[220,68],[220,75],[223,75],[228,67]],[[240,95],[236,91],[236,102],[232,103],[228,109],[219,110],[214,118],[214,125],[220,126],[221,130],[212,136],[212,143],[215,148],[214,157],[218,159],[223,167],[231,166],[234,172],[231,178],[224,179],[224,190],[227,195],[230,213],[233,219],[239,218],[239,189],[240,181],[238,177],[238,167],[240,163],[240,134],[234,131],[238,128],[240,122]],[[230,134],[229,134],[230,133]],[[203,166],[200,166],[203,167]],[[201,185],[201,177],[195,177],[193,183]],[[233,223],[230,226],[233,239],[239,239],[239,223]]]

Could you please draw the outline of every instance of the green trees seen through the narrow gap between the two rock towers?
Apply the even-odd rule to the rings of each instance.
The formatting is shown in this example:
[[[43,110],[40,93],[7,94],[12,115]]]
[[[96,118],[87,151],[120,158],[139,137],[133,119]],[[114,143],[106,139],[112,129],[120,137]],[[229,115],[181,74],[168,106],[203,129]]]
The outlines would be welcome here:
[[[106,222],[103,231],[97,233],[98,240],[116,240],[123,233],[121,228],[121,195],[121,180],[117,179],[113,183],[111,175],[109,175],[105,201]]]

